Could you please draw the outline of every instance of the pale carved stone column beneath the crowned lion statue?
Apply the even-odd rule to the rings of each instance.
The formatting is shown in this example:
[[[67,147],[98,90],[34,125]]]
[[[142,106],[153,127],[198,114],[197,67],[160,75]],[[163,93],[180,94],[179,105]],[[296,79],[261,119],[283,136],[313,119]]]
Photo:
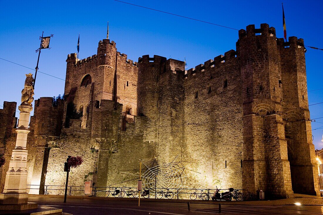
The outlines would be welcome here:
[[[19,124],[16,129],[16,147],[12,150],[9,170],[5,176],[5,186],[0,194],[0,204],[26,204],[28,202],[27,185],[27,135],[30,112],[33,110],[28,104],[20,105]]]

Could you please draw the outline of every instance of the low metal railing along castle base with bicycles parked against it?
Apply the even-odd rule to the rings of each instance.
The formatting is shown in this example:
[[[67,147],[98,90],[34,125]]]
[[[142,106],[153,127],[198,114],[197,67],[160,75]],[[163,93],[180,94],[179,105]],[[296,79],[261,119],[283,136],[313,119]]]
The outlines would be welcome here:
[[[39,193],[39,185],[27,185],[27,190],[29,193],[38,194]],[[92,194],[93,197],[105,197],[107,196],[107,192],[114,192],[115,190],[119,190],[119,192],[123,192],[123,197],[133,197],[130,192],[137,192],[136,187],[92,187]],[[212,198],[212,195],[215,192],[215,189],[195,189],[195,188],[143,188],[143,190],[148,190],[149,195],[143,196],[143,198],[168,198],[168,199],[192,199],[192,194],[196,193],[197,200],[201,199],[201,194],[206,193],[208,198],[207,200]],[[228,189],[220,189],[220,192],[228,191]],[[256,200],[257,195],[252,193],[246,193],[244,190],[236,190],[244,194],[244,200]],[[165,194],[171,195],[165,197]],[[65,193],[65,185],[45,185],[44,186],[44,194],[45,195],[64,195]],[[125,195],[126,193],[126,195]],[[163,193],[161,196],[161,193]],[[84,195],[84,186],[68,186],[69,196],[81,196]],[[234,192],[232,193],[234,194]],[[113,196],[110,194],[110,196]],[[120,195],[114,195],[115,197],[119,197]],[[233,195],[234,196],[234,195]]]

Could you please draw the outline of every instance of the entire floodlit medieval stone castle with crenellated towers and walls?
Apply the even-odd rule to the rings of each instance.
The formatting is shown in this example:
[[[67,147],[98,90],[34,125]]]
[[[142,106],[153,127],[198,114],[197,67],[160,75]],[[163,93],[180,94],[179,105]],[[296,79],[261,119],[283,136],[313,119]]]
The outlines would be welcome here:
[[[35,101],[27,144],[30,193],[64,185],[71,155],[84,160],[70,175],[74,186],[136,184],[141,160],[185,162],[191,188],[318,195],[305,51],[303,39],[284,42],[261,24],[239,31],[236,51],[187,71],[185,62],[157,55],[128,60],[109,39],[86,59],[69,54],[64,100]],[[15,110],[15,102],[0,110],[6,161],[16,140]]]

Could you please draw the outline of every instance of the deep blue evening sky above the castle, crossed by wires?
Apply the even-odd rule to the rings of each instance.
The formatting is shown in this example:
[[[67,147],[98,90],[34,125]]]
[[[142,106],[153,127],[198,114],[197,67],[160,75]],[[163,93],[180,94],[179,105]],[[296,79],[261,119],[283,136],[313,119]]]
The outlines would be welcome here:
[[[236,29],[248,24],[268,23],[283,37],[281,0],[270,1],[151,1],[124,0],[170,13],[189,16]],[[287,37],[304,38],[305,45],[323,48],[322,1],[284,1]],[[54,34],[50,50],[43,50],[39,71],[65,79],[66,58],[77,52],[80,33],[79,58],[97,53],[98,42],[106,37],[117,43],[118,51],[128,59],[138,61],[145,54],[157,54],[183,60],[188,68],[234,49],[238,39],[236,30],[197,22],[173,15],[106,1],[1,1],[0,58],[35,68],[39,36]],[[323,51],[307,48],[308,91],[323,88]],[[0,59],[0,105],[3,101],[20,103],[25,74],[32,70]],[[37,73],[35,99],[52,97],[64,92],[64,81]],[[323,90],[308,92],[309,104],[323,102]],[[0,107],[2,108],[2,107]],[[323,117],[323,104],[310,106],[311,118]],[[323,126],[322,119],[312,122],[312,129]],[[315,148],[323,128],[313,131]]]

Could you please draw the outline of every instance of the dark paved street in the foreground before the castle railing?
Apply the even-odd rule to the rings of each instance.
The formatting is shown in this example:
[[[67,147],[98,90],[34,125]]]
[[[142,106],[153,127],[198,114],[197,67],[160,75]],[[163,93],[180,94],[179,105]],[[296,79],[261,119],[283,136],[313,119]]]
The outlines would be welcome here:
[[[219,214],[218,202],[192,201],[190,200],[190,211],[188,200],[155,200],[141,199],[138,207],[138,199],[129,198],[100,198],[100,197],[68,197],[67,203],[63,203],[63,196],[30,195],[29,201],[37,202],[39,205],[62,208],[63,212],[73,215],[94,215],[94,214],[129,214],[129,215],[197,215],[197,214]],[[294,200],[294,201],[293,201]],[[302,201],[305,205],[294,205]],[[312,200],[312,201],[310,201]],[[280,202],[280,205],[279,205]],[[292,204],[289,204],[291,203]],[[321,205],[314,205],[320,203]],[[312,203],[312,204],[310,204]],[[273,201],[248,201],[248,202],[221,202],[222,214],[323,214],[323,199],[303,196],[284,200]]]

